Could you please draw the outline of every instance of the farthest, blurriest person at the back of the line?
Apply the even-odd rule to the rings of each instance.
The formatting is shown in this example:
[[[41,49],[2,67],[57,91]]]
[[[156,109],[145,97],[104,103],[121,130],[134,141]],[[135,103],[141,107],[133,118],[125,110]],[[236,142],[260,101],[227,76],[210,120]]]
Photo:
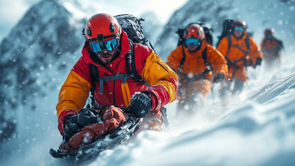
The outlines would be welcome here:
[[[265,64],[280,64],[280,50],[283,49],[283,42],[274,37],[274,29],[265,30],[265,38],[261,42],[261,50],[265,57]]]

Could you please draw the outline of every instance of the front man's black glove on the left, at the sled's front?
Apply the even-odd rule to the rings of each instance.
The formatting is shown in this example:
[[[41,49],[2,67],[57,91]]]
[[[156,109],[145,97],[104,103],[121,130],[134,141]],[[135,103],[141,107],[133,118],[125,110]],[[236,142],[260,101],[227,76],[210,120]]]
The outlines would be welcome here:
[[[69,142],[69,139],[81,130],[77,123],[78,116],[69,115],[64,118],[64,140]]]

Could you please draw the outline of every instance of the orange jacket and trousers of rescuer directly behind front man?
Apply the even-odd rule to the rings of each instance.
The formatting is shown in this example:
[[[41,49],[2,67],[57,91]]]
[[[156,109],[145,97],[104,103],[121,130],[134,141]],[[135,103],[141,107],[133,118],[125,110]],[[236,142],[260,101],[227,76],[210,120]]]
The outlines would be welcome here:
[[[206,93],[211,91],[213,80],[211,71],[205,77],[194,79],[194,76],[206,71],[207,66],[202,56],[203,51],[206,51],[207,61],[211,64],[215,75],[218,73],[226,75],[227,73],[226,60],[216,48],[207,44],[206,41],[202,42],[201,48],[195,53],[190,53],[183,45],[177,46],[168,56],[167,64],[177,72],[179,77],[181,91],[179,91],[178,100],[180,103],[187,102],[190,95],[195,91],[201,93],[203,98],[205,98]],[[183,61],[182,66],[181,61]]]

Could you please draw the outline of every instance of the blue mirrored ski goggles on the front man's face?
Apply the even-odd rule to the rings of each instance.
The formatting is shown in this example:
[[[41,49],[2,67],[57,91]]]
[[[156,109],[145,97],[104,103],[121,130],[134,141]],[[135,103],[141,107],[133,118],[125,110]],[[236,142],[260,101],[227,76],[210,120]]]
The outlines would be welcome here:
[[[102,54],[104,50],[108,50],[109,52],[113,52],[118,48],[120,43],[120,39],[118,37],[114,39],[109,39],[104,42],[90,42],[90,48],[94,53]]]

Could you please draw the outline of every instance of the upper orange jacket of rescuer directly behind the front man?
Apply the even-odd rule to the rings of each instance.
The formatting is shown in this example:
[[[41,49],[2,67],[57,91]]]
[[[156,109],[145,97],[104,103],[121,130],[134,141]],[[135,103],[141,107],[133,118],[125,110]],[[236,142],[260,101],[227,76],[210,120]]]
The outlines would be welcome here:
[[[195,53],[190,53],[183,45],[177,46],[177,48],[168,56],[167,64],[179,74],[179,77],[181,77],[180,73],[186,75],[203,73],[206,70],[205,60],[202,57],[202,51],[205,48],[207,48],[206,54],[208,62],[212,65],[215,75],[217,75],[217,73],[226,75],[226,60],[216,48],[207,44],[206,41],[202,43],[200,50],[197,50]],[[184,56],[184,63],[180,68],[181,60]],[[212,73],[208,73],[206,78],[212,80]]]

